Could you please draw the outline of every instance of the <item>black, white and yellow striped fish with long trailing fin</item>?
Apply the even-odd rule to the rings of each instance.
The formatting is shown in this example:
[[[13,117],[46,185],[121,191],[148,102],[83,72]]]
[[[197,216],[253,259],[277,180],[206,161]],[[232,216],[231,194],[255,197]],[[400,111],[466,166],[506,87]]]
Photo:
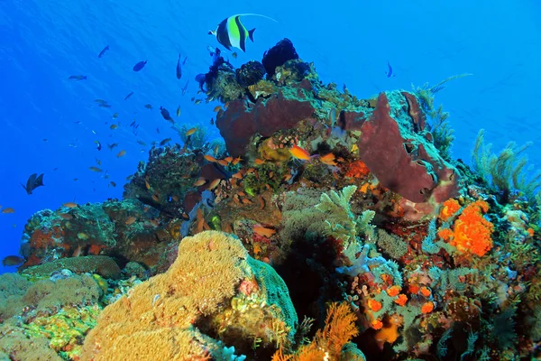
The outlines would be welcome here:
[[[238,48],[242,51],[246,51],[246,39],[250,38],[253,42],[253,32],[255,28],[248,31],[241,23],[241,16],[261,16],[266,19],[270,19],[273,22],[276,20],[260,14],[237,14],[226,18],[222,23],[218,24],[218,27],[214,31],[209,31],[208,34],[215,35],[216,40],[225,46],[228,51],[231,48]]]

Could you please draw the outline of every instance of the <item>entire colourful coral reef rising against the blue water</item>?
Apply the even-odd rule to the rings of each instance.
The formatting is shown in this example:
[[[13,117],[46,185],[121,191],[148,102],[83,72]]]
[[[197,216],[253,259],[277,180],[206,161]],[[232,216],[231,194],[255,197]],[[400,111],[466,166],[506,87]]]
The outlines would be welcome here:
[[[287,39],[212,56],[225,142],[177,126],[124,200],[36,213],[0,277],[5,357],[541,357],[538,177],[482,133],[452,159],[434,97],[467,74],[358,98]]]

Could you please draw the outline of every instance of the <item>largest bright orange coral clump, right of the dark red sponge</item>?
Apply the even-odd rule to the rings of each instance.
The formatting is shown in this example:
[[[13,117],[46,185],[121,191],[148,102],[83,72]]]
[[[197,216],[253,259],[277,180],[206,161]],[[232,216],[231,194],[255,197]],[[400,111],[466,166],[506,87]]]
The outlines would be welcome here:
[[[492,248],[491,234],[494,225],[482,217],[489,210],[489,204],[477,200],[463,209],[454,222],[453,230],[442,229],[438,235],[454,245],[462,255],[486,255]]]

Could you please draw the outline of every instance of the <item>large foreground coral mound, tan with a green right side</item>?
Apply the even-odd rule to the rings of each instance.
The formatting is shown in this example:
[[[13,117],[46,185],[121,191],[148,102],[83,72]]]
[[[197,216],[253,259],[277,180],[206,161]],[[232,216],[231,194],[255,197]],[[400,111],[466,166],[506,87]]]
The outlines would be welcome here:
[[[238,238],[207,231],[182,239],[166,273],[105,308],[82,360],[204,359],[224,347],[214,338],[243,352],[254,335],[261,347],[276,349],[280,337],[294,336],[297,321],[271,266],[252,259]]]

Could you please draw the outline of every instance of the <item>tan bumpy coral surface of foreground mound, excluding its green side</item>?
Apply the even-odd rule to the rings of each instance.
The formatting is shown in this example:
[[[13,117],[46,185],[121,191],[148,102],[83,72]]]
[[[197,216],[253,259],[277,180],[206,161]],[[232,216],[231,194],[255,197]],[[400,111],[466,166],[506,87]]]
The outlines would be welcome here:
[[[214,339],[220,332],[212,325],[232,309],[235,297],[243,296],[246,280],[254,278],[249,258],[241,241],[232,235],[206,231],[183,238],[179,256],[166,273],[135,286],[105,308],[85,339],[81,359],[214,357],[223,344]],[[288,294],[287,289],[282,291]],[[253,339],[246,342],[252,345]]]

